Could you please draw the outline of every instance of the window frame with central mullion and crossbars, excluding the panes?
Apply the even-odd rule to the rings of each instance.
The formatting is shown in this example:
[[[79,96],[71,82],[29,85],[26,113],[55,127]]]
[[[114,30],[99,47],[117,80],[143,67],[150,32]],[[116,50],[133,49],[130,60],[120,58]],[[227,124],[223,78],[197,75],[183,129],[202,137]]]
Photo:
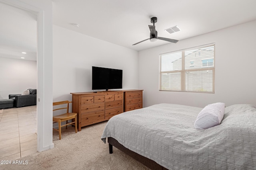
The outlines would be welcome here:
[[[208,66],[209,62],[207,61],[207,66],[202,66],[201,68],[196,68],[195,69],[194,67],[191,67],[191,65],[189,67],[185,68],[185,57],[186,57],[185,56],[185,51],[189,51],[189,50],[192,50],[192,49],[203,49],[203,48],[206,48],[206,47],[213,47],[214,48],[213,49],[213,57],[205,57],[205,58],[201,59],[201,62],[203,60],[213,59],[212,66]],[[182,53],[182,55],[181,55],[181,57],[182,57],[181,70],[162,71],[161,57],[163,57],[164,55],[167,56],[167,55],[171,55],[171,54],[175,54],[175,53]],[[189,63],[191,61],[195,61],[195,59],[194,58],[189,59]],[[194,66],[194,64],[193,64],[193,66]],[[204,71],[204,70],[206,70],[207,72],[210,71],[210,70],[212,71],[212,91],[186,90],[186,73],[187,72],[195,72],[195,71]],[[180,90],[162,89],[162,75],[163,74],[177,73],[177,72],[180,72]],[[203,83],[203,82],[201,81],[200,83]],[[188,48],[188,49],[182,49],[182,50],[178,50],[178,51],[172,51],[172,52],[169,52],[169,53],[160,54],[159,55],[159,91],[215,93],[215,43],[210,43],[210,44],[200,45],[200,46],[192,47],[192,48]]]

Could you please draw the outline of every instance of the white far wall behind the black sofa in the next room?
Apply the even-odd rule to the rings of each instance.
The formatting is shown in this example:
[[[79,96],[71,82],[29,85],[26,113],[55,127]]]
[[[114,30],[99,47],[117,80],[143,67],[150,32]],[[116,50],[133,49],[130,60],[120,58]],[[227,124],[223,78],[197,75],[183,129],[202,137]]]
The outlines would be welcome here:
[[[21,94],[28,88],[36,88],[36,61],[0,57],[0,99],[9,94]]]

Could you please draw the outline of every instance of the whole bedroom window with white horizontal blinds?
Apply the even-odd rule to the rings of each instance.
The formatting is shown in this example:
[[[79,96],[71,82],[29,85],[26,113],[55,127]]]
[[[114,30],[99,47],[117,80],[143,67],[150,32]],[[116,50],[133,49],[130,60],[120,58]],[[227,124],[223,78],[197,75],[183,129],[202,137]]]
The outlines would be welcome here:
[[[160,55],[162,91],[214,93],[215,44]]]

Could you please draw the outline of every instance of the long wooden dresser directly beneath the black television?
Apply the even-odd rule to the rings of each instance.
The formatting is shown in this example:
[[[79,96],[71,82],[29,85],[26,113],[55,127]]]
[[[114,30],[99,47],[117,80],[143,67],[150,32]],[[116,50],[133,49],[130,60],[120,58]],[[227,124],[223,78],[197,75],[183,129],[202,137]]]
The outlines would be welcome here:
[[[72,112],[78,113],[78,131],[81,127],[106,121],[124,111],[123,91],[80,92],[72,94]]]

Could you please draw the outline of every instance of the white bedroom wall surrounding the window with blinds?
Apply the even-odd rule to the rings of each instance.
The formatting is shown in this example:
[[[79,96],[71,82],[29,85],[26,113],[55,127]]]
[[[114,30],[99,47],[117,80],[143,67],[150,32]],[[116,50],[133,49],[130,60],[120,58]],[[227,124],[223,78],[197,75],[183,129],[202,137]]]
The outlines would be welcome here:
[[[256,105],[256,21],[139,52],[139,88],[144,107],[159,103],[204,107],[214,102]],[[216,43],[215,93],[158,90],[159,54]]]

